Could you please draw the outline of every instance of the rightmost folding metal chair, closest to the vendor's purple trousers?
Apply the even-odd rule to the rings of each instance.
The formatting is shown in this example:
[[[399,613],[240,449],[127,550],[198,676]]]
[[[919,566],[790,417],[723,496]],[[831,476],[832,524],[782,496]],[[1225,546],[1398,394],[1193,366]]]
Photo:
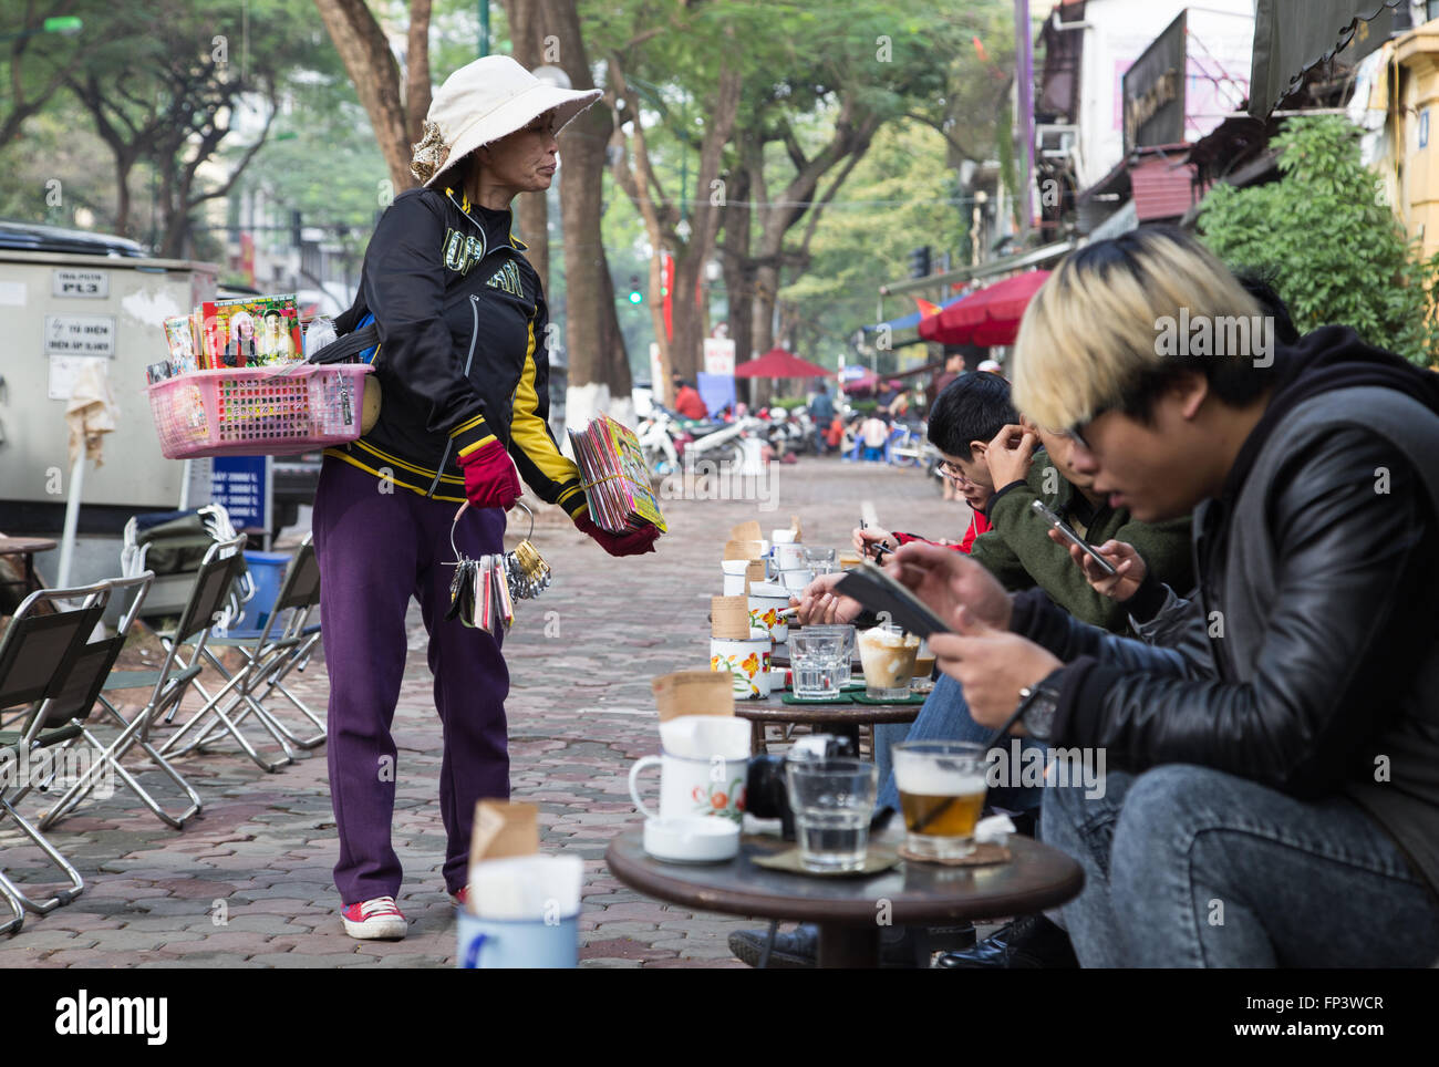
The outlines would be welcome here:
[[[272,732],[278,732],[299,748],[312,749],[324,743],[325,723],[285,686],[285,677],[292,670],[304,670],[315,643],[319,641],[319,624],[309,623],[309,615],[318,605],[319,561],[315,557],[311,535],[307,534],[299,551],[295,552],[285,569],[275,605],[266,615],[262,628],[252,634],[224,633],[219,628],[212,631],[203,654],[206,661],[235,686],[224,710],[230,712],[236,705],[245,705],[235,716],[236,726],[253,713],[268,728],[272,728]],[[213,649],[217,647],[236,649],[245,656],[245,664],[237,673],[232,674],[214,654]],[[204,692],[199,682],[196,687]],[[266,705],[266,699],[276,692],[298,709],[318,732],[308,738],[299,736],[276,718]],[[219,719],[212,720],[183,749],[177,749],[176,755],[200,748],[219,729]]]

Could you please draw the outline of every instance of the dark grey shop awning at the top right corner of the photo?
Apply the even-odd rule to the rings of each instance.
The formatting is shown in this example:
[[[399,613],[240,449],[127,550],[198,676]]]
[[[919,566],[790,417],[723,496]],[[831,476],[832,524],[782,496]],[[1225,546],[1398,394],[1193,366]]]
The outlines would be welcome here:
[[[1354,59],[1393,30],[1402,0],[1259,0],[1249,69],[1249,114],[1263,118],[1298,88],[1304,72],[1354,45]]]

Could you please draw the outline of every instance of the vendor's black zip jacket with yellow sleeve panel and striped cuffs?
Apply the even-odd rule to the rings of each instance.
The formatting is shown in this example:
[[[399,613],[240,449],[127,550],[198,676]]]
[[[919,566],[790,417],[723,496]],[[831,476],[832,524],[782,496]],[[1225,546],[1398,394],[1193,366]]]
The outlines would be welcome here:
[[[547,421],[550,313],[509,226],[508,210],[472,204],[458,190],[394,198],[370,237],[355,303],[335,324],[344,334],[374,313],[380,420],[325,454],[459,502],[458,459],[498,439],[543,500],[576,515],[584,508],[580,472]]]

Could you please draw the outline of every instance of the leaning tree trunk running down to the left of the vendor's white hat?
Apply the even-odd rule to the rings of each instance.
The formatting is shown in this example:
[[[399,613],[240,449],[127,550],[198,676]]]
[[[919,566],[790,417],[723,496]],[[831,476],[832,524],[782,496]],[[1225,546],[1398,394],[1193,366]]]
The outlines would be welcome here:
[[[390,52],[390,42],[364,0],[315,0],[335,52],[350,72],[355,95],[370,116],[376,142],[384,155],[394,191],[420,183],[410,174],[410,145],[420,139],[420,129],[410,129],[400,104],[400,66]],[[412,16],[413,17],[413,16]],[[429,33],[429,27],[425,27]],[[414,63],[414,66],[419,66]],[[430,72],[412,70],[413,78],[429,82]]]

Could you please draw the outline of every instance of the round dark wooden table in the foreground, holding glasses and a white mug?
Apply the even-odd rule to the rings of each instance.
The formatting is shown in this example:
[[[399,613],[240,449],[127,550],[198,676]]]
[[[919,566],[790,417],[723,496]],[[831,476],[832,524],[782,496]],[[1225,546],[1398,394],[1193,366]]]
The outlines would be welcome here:
[[[879,966],[882,925],[944,926],[964,919],[1036,915],[1072,900],[1084,887],[1078,863],[1017,834],[1009,838],[1010,861],[989,867],[901,860],[879,874],[812,877],[754,863],[755,857],[793,847],[777,837],[748,835],[740,840],[740,854],[725,863],[666,863],[645,853],[643,827],[633,827],[610,840],[604,861],[626,886],[659,900],[705,912],[817,923],[819,966],[825,968]]]

